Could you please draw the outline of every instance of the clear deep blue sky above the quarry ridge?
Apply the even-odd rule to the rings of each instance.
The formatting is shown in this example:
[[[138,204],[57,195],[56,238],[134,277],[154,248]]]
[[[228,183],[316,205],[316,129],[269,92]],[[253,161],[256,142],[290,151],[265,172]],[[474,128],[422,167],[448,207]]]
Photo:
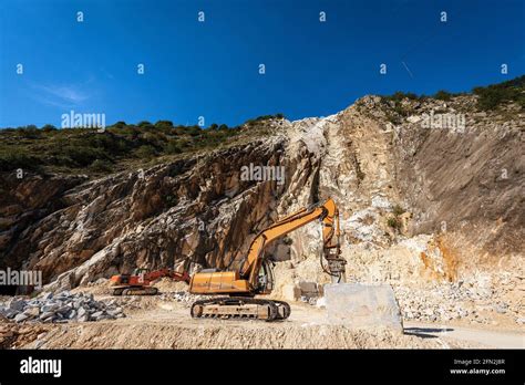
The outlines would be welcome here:
[[[366,94],[469,91],[525,73],[524,7],[523,0],[2,0],[0,127],[60,126],[71,110],[104,113],[107,124],[196,124],[204,116],[206,125],[236,125],[278,112],[291,119],[329,115]],[[379,74],[381,63],[387,75]]]

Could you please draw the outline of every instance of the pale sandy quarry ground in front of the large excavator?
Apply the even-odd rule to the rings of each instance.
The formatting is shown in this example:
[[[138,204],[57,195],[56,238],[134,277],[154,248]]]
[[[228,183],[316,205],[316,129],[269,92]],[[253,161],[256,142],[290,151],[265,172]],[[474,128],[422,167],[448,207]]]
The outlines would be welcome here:
[[[525,333],[498,326],[404,323],[404,333],[350,330],[327,322],[323,309],[291,303],[282,322],[195,320],[185,303],[159,296],[124,305],[114,321],[40,324],[16,348],[524,348]],[[24,326],[32,327],[32,326]]]

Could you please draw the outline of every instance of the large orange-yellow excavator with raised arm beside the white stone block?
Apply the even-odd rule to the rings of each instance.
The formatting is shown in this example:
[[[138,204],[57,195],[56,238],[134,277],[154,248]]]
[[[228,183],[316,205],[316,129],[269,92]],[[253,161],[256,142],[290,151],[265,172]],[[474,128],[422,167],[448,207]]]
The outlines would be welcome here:
[[[238,271],[202,270],[195,273],[189,281],[189,292],[210,298],[194,302],[192,316],[266,321],[287,319],[290,315],[288,303],[255,298],[257,294],[269,294],[274,289],[274,273],[265,257],[265,249],[276,239],[315,220],[320,220],[322,225],[321,267],[332,277],[332,282],[344,282],[346,261],[340,257],[339,210],[336,202],[328,199],[322,205],[303,208],[260,231],[251,241]]]

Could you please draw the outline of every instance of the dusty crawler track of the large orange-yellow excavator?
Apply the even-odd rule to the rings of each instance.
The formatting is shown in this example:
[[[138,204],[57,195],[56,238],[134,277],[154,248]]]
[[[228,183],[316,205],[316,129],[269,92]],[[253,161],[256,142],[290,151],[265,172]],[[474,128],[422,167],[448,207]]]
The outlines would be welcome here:
[[[196,301],[191,310],[194,319],[281,321],[290,316],[290,305],[282,301],[247,296],[223,296]]]

